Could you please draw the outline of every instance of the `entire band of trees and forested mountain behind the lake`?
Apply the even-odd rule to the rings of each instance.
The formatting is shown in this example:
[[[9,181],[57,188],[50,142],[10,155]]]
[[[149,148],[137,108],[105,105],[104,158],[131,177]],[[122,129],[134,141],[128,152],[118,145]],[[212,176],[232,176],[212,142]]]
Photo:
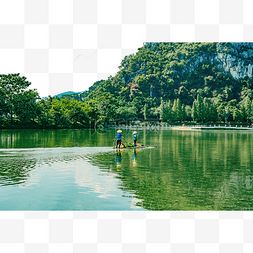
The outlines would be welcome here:
[[[0,127],[253,122],[253,43],[144,43],[119,64],[115,76],[61,97],[0,75]]]

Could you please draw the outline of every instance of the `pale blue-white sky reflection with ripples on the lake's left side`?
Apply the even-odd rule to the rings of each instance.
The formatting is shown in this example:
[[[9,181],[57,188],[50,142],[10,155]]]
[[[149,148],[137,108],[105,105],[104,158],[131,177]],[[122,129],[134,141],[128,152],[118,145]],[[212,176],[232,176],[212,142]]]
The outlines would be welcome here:
[[[139,210],[134,195],[118,189],[114,173],[90,163],[112,151],[1,149],[0,210]]]

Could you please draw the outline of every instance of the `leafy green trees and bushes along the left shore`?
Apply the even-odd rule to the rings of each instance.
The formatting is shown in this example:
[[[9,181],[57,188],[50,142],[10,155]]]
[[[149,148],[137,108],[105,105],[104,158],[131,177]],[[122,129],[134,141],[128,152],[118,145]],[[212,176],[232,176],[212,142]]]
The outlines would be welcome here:
[[[0,75],[1,127],[88,127],[93,108],[73,97],[40,99],[19,74]],[[100,108],[101,109],[101,108]],[[101,110],[102,111],[102,110]]]

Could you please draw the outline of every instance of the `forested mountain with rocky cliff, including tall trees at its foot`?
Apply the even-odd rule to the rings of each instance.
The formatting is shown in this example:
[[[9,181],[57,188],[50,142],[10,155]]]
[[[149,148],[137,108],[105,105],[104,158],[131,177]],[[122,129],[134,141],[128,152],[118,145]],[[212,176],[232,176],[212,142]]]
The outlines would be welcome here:
[[[103,101],[106,95],[116,115],[125,119],[186,120],[188,115],[188,120],[218,121],[235,112],[235,120],[245,121],[243,105],[253,98],[252,67],[252,43],[146,43],[86,101]],[[204,108],[192,112],[194,104],[204,107],[204,102],[213,109],[209,119],[195,115]],[[186,115],[173,117],[169,111],[182,105]]]

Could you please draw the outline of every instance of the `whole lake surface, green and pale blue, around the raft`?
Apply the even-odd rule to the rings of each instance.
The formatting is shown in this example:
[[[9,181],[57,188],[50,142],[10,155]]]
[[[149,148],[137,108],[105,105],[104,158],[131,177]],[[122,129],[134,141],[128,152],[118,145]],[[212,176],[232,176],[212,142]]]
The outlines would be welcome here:
[[[127,141],[132,131],[124,130]],[[253,132],[1,130],[0,210],[253,210]]]

